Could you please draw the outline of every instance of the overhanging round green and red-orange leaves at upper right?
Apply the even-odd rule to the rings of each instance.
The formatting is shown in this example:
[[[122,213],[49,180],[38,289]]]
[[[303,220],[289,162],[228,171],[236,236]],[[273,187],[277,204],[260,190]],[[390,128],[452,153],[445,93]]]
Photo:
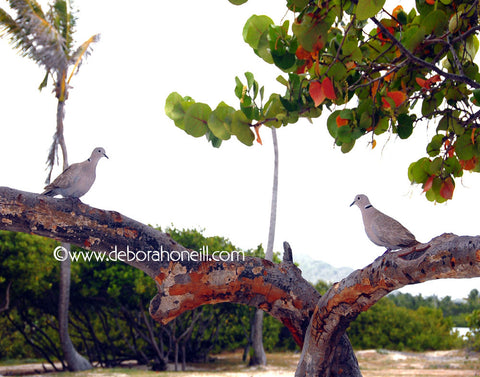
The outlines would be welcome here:
[[[187,112],[193,100],[172,93],[167,115],[218,147],[231,135],[252,145],[260,125],[312,120],[327,108],[328,131],[344,153],[362,137],[375,147],[377,135],[407,139],[435,121],[428,157],[410,166],[409,179],[423,186],[429,200],[451,199],[455,179],[465,170],[480,170],[480,74],[474,62],[479,2],[417,0],[411,10],[386,10],[384,3],[289,0],[291,25],[251,16],[243,38],[281,71],[277,80],[285,93],[271,94],[263,105],[262,90],[257,104],[259,85],[247,73],[246,84],[236,78],[239,110],[222,102],[214,111],[196,104]]]

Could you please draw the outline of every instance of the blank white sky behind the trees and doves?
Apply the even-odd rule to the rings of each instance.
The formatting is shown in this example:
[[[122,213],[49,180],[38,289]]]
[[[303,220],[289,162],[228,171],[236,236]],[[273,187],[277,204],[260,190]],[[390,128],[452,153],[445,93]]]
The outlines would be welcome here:
[[[397,3],[387,1],[386,8]],[[222,100],[238,107],[234,78],[243,78],[245,71],[265,85],[267,98],[272,92],[283,94],[275,81],[281,72],[243,42],[242,29],[252,14],[281,23],[284,2],[250,0],[236,7],[227,0],[82,0],[75,5],[80,10],[77,42],[95,33],[101,40],[72,80],[65,117],[69,162],[85,160],[96,146],[110,157],[100,161],[96,183],[82,201],[152,225],[204,228],[207,235],[227,237],[240,248],[266,245],[270,130],[260,130],[263,146],[246,147],[232,139],[214,149],[205,138],[176,128],[164,105],[177,91],[212,109]],[[8,9],[7,1],[0,0],[0,7]],[[44,72],[5,40],[0,40],[0,62],[0,185],[41,192],[56,99],[51,86],[38,92]],[[442,205],[428,202],[421,188],[408,181],[408,165],[425,155],[435,124],[417,128],[407,141],[379,137],[374,150],[368,140],[359,140],[343,155],[333,147],[326,116],[277,132],[275,251],[282,251],[286,240],[294,254],[337,267],[371,263],[384,249],[368,240],[360,211],[349,207],[358,193],[367,194],[420,241],[444,232],[479,234],[480,175],[465,174],[454,200]],[[480,279],[442,280],[402,291],[466,297],[479,286]]]

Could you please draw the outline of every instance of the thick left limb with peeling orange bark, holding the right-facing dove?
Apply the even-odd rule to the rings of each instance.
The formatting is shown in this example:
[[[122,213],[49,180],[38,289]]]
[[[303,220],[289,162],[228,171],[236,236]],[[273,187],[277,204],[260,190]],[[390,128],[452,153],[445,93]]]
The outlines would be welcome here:
[[[159,293],[150,311],[162,323],[200,305],[236,302],[265,310],[302,344],[320,297],[291,261],[274,264],[247,256],[243,260],[238,254],[230,261],[197,262],[198,252],[188,251],[168,234],[78,200],[0,187],[0,229],[54,238],[95,252],[126,251],[127,247],[132,253],[165,251],[162,260],[126,261],[157,282]],[[169,256],[178,259],[180,252],[183,260],[169,261]]]

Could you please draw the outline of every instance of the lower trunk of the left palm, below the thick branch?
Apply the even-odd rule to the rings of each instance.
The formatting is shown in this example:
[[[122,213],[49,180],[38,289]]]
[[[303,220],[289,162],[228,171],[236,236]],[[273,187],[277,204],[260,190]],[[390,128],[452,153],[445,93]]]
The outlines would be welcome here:
[[[70,244],[62,243],[62,246],[70,252]],[[60,262],[60,292],[58,300],[58,322],[60,344],[62,346],[63,355],[67,362],[68,369],[71,371],[81,371],[91,369],[90,362],[80,355],[73,346],[72,340],[68,333],[68,306],[70,303],[70,258],[65,258]]]

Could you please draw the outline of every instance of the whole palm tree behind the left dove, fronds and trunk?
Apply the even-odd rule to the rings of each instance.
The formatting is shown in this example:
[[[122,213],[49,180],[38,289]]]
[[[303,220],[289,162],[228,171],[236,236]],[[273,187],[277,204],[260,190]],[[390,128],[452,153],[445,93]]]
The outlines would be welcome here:
[[[68,0],[55,0],[48,12],[44,12],[35,0],[9,0],[10,16],[0,8],[0,36],[10,37],[10,42],[22,56],[32,59],[46,71],[39,89],[53,79],[55,96],[58,99],[56,130],[47,158],[49,168],[46,183],[58,160],[58,146],[62,150],[63,169],[68,167],[67,147],[63,136],[65,101],[68,99],[69,84],[78,72],[82,61],[89,55],[99,35],[93,35],[78,48],[73,48],[73,33],[76,18]],[[70,245],[64,245],[68,250]],[[91,364],[75,350],[68,334],[68,303],[70,296],[70,259],[61,262],[59,294],[59,332],[65,360],[71,370],[90,369]]]

